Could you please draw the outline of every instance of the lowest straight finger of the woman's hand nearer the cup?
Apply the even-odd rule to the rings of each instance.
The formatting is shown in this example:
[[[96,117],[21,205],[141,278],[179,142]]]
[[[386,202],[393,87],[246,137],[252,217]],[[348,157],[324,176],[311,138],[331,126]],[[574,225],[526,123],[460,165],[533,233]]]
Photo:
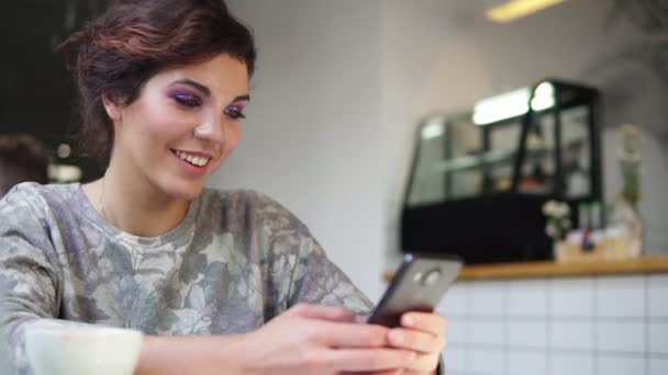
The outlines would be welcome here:
[[[398,349],[339,349],[329,351],[326,361],[341,372],[378,372],[407,368],[415,352]]]

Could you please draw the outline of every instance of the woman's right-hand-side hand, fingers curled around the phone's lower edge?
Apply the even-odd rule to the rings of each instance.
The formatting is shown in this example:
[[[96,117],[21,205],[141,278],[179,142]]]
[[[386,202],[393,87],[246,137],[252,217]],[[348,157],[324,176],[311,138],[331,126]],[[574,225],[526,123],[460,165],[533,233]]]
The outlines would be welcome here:
[[[433,374],[445,348],[445,319],[437,312],[405,312],[401,327],[388,333],[391,348],[411,350],[415,361],[401,374]]]

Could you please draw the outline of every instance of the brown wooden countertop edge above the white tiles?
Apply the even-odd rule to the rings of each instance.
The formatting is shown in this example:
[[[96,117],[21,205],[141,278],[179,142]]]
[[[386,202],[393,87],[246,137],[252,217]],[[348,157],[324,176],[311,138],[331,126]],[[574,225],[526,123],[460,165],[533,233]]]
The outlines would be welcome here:
[[[465,266],[457,280],[553,279],[647,273],[668,273],[668,257],[582,263],[523,262],[475,264]],[[393,276],[394,272],[386,272],[385,280],[390,281]]]

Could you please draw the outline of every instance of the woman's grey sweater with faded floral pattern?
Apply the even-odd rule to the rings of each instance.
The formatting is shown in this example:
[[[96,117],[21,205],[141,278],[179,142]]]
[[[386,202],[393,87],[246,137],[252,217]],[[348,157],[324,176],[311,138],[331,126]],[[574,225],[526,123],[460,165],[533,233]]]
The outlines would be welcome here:
[[[371,307],[294,215],[249,191],[204,190],[178,227],[143,238],[108,224],[79,184],[21,184],[0,201],[0,292],[21,373],[24,329],[42,319],[224,334],[301,302]]]

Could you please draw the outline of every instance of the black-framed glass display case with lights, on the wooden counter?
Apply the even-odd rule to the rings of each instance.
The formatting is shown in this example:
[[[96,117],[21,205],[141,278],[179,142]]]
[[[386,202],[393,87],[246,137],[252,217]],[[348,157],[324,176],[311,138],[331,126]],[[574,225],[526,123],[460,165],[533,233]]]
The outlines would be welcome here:
[[[602,197],[598,114],[595,89],[545,80],[427,118],[405,191],[402,248],[469,263],[549,259],[543,203]]]

